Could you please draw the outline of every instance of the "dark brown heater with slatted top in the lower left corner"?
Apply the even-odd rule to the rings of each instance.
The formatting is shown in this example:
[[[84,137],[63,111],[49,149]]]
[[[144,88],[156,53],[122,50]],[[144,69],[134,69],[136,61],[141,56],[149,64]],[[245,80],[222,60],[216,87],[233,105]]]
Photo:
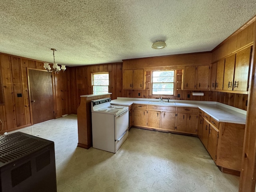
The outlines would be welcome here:
[[[56,192],[54,142],[22,132],[0,137],[0,192]]]

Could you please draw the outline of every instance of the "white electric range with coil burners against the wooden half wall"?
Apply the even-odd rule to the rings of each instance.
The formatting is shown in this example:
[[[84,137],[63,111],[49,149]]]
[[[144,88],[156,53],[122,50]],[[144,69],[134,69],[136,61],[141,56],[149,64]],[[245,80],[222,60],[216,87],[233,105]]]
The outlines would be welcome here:
[[[92,147],[116,153],[128,137],[129,107],[110,105],[111,98],[92,100]]]

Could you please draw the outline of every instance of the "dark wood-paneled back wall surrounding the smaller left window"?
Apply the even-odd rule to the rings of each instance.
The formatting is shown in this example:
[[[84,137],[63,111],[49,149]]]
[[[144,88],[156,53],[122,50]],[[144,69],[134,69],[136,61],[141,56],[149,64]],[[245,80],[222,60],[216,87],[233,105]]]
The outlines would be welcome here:
[[[122,63],[72,67],[70,70],[71,112],[76,114],[81,95],[92,94],[92,73],[109,72],[111,99],[122,97]]]

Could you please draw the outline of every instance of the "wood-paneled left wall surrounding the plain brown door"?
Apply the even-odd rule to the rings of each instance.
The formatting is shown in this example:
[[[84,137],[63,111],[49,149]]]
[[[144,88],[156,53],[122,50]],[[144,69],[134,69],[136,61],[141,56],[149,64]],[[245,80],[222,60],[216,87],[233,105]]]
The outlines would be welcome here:
[[[27,68],[43,70],[43,65],[40,61],[0,54],[3,86],[3,97],[0,103],[0,119],[3,122],[3,129],[0,126],[0,133],[31,125]],[[67,69],[64,73],[53,74],[53,80],[55,116],[70,114],[68,95],[70,72]],[[18,97],[17,94],[22,94],[22,97]]]

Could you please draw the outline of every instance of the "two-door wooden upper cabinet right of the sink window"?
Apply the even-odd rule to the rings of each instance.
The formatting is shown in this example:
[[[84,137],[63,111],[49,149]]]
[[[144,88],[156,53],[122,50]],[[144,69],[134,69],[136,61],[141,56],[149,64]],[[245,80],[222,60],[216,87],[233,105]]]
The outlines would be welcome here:
[[[209,88],[209,65],[185,66],[184,90],[207,90]]]

